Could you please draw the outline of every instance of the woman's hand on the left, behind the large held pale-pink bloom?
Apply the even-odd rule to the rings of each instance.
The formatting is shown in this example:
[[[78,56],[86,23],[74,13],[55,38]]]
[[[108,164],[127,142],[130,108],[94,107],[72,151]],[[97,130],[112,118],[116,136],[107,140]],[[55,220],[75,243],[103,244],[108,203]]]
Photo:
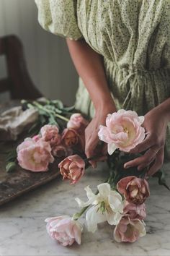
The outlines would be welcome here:
[[[102,143],[99,145],[99,126],[106,124],[106,117],[108,114],[112,114],[116,111],[115,104],[107,104],[104,107],[99,107],[96,109],[94,118],[89,123],[85,130],[85,153],[87,158],[91,158],[94,155],[99,155],[95,161],[89,161],[91,165],[95,168],[97,167],[97,161],[104,161],[107,159],[107,145]]]

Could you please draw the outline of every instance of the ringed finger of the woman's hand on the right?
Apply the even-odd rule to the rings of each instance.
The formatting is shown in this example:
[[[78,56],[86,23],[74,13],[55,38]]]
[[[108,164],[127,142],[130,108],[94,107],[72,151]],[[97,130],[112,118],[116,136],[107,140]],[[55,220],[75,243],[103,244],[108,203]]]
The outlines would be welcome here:
[[[156,151],[149,149],[148,151],[146,151],[144,155],[141,155],[140,157],[125,163],[124,168],[130,168],[141,165],[148,166],[149,163],[151,163],[154,160],[154,158],[156,158]]]

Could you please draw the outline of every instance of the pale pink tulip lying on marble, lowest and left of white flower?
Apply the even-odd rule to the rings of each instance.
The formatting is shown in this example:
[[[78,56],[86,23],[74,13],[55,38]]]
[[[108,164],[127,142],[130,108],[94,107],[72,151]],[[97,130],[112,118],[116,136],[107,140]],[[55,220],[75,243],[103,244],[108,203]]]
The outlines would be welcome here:
[[[81,244],[82,226],[79,221],[73,221],[70,216],[47,218],[47,231],[52,239],[63,246],[71,246],[73,242]]]

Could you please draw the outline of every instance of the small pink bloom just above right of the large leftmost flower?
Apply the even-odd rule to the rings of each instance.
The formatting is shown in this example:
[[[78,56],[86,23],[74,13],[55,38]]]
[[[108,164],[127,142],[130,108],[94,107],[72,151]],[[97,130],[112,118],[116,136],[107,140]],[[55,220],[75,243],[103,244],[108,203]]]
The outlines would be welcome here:
[[[56,125],[46,124],[40,129],[42,140],[49,142],[50,145],[58,145],[61,142],[61,135]]]

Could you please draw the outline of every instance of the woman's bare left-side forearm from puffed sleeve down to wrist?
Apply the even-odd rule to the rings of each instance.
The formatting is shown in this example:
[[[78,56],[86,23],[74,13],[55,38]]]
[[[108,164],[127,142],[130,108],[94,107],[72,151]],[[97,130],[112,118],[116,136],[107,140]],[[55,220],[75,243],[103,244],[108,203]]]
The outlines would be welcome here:
[[[85,40],[67,39],[68,49],[79,76],[89,91],[94,108],[102,108],[105,103],[113,104],[104,73],[102,56],[97,54]]]

